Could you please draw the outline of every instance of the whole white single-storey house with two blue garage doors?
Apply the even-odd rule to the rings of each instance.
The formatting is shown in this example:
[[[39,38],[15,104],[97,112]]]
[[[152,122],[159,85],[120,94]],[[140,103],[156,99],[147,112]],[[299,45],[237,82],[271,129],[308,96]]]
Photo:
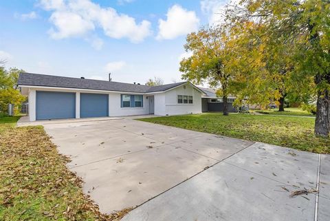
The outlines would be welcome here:
[[[30,121],[155,114],[201,113],[204,94],[189,82],[161,86],[21,73]]]

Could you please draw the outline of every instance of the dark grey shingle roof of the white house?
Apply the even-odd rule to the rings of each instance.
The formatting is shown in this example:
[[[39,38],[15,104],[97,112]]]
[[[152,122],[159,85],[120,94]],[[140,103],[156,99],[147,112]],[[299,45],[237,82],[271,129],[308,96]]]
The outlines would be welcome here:
[[[22,72],[19,74],[18,85],[31,85],[43,87],[67,87],[77,89],[89,90],[106,90],[117,92],[134,92],[134,93],[148,93],[148,92],[164,92],[170,88],[177,87],[186,82],[171,83],[161,86],[147,86],[135,85],[130,83],[120,83],[115,81],[99,81],[82,78],[71,78],[66,76],[52,76],[45,74],[32,74]]]

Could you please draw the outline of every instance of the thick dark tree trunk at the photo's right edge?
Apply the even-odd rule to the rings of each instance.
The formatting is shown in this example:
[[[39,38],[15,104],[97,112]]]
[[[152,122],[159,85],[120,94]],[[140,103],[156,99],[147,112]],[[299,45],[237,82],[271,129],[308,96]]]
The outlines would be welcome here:
[[[330,100],[329,91],[318,93],[316,104],[316,120],[314,133],[316,136],[328,137],[330,132]]]

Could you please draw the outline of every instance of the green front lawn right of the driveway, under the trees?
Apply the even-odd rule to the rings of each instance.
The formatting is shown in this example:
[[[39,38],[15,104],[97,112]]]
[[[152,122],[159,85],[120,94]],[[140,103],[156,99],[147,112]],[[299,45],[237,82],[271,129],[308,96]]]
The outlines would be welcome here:
[[[314,136],[314,118],[252,114],[223,116],[220,113],[210,113],[138,120],[303,151],[330,153],[330,139]]]

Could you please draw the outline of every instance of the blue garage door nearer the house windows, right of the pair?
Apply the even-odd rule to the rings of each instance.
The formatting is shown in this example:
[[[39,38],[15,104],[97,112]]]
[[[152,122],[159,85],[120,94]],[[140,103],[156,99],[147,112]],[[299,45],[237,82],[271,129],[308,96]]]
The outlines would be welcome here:
[[[80,94],[80,117],[108,116],[108,94]]]

